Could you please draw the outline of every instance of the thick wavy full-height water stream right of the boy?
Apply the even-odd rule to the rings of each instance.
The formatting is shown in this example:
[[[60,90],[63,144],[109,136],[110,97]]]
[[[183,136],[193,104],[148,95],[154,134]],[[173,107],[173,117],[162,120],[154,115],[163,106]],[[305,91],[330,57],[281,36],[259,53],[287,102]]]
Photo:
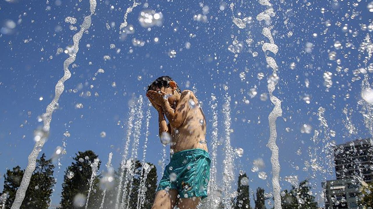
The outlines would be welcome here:
[[[269,0],[260,0],[259,3],[263,6],[272,6]],[[264,12],[259,13],[257,15],[258,21],[266,21],[268,22],[271,17],[275,16],[275,12],[273,8],[269,8]],[[273,196],[275,199],[275,209],[281,209],[281,187],[279,183],[280,177],[280,163],[279,163],[279,149],[276,145],[277,139],[277,131],[276,131],[276,119],[282,115],[281,109],[281,100],[279,100],[276,96],[273,95],[273,91],[276,89],[276,84],[278,83],[278,65],[273,57],[267,55],[267,51],[276,54],[278,52],[278,46],[275,44],[273,40],[270,28],[264,27],[262,30],[262,34],[269,39],[270,43],[264,43],[262,46],[262,50],[264,55],[266,56],[266,62],[269,67],[272,68],[272,76],[268,80],[268,91],[269,91],[269,98],[275,107],[273,108],[272,112],[269,113],[268,120],[269,120],[269,140],[267,146],[272,152],[271,156],[271,164],[272,164],[272,185],[273,185]]]

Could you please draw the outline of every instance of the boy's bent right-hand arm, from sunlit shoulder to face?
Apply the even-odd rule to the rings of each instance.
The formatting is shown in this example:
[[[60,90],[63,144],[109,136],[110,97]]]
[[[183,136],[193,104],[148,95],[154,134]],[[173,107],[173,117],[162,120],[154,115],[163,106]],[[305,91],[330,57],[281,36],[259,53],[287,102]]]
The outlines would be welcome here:
[[[167,99],[164,100],[162,103],[162,109],[164,115],[166,115],[168,121],[170,122],[171,126],[174,128],[178,128],[181,124],[184,123],[186,115],[189,109],[192,106],[197,106],[197,98],[195,97],[194,93],[189,90],[184,90],[181,93],[180,100],[176,109],[172,109],[170,103]]]

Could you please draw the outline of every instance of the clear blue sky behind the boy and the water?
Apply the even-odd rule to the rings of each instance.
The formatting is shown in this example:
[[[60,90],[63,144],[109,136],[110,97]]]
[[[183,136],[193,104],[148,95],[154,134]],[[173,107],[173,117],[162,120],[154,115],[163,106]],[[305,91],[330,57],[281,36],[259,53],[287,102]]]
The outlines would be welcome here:
[[[266,192],[270,192],[270,150],[266,144],[269,138],[267,118],[273,105],[269,99],[261,101],[260,94],[267,93],[267,77],[272,70],[267,67],[261,51],[261,42],[267,42],[261,35],[264,23],[255,20],[265,7],[257,1],[147,1],[148,9],[162,12],[163,15],[162,26],[154,26],[148,30],[138,21],[138,16],[146,5],[143,1],[140,3],[128,15],[128,23],[134,26],[134,33],[120,38],[119,25],[132,1],[98,1],[91,28],[88,33],[84,33],[79,43],[79,52],[74,62],[76,66],[70,65],[72,77],[65,82],[65,91],[60,97],[59,109],[53,114],[50,136],[43,148],[47,156],[52,156],[56,147],[66,142],[67,154],[60,158],[61,165],[57,165],[55,169],[57,183],[52,198],[53,205],[59,202],[63,173],[76,152],[91,149],[103,163],[106,163],[109,152],[113,152],[113,165],[119,166],[125,142],[129,100],[133,96],[145,96],[144,88],[147,84],[161,75],[173,77],[182,90],[195,91],[198,100],[203,103],[208,120],[207,141],[210,141],[211,135],[212,112],[208,105],[211,93],[217,96],[219,138],[224,140],[221,110],[225,102],[223,96],[228,92],[232,98],[232,146],[244,149],[244,155],[235,161],[235,172],[237,175],[239,170],[247,172],[251,189],[261,186]],[[233,12],[229,8],[231,3],[234,4]],[[279,52],[272,54],[272,57],[279,65],[280,77],[275,95],[282,100],[283,109],[283,116],[277,120],[282,179],[290,175],[298,176],[299,180],[312,177],[312,171],[303,169],[304,162],[311,158],[308,148],[322,147],[325,144],[321,142],[315,145],[311,140],[313,131],[311,134],[302,134],[301,126],[309,124],[313,130],[320,129],[315,114],[319,107],[326,109],[325,119],[329,129],[336,132],[335,137],[330,140],[337,144],[370,136],[364,127],[360,106],[357,105],[358,100],[361,100],[361,80],[351,81],[356,77],[352,71],[359,64],[364,67],[359,54],[367,56],[366,53],[359,52],[358,47],[367,34],[372,36],[372,32],[361,29],[361,24],[371,24],[369,17],[372,13],[368,11],[367,4],[364,0],[358,5],[346,1],[335,4],[330,1],[307,0],[273,3],[276,15],[272,17],[271,31]],[[209,7],[207,22],[193,19],[194,15],[203,13],[202,5]],[[221,5],[226,5],[224,10],[219,9]],[[57,48],[65,49],[72,45],[72,36],[76,33],[69,29],[70,23],[65,22],[65,17],[75,17],[75,26],[79,28],[84,16],[89,14],[89,2],[1,0],[0,7],[0,26],[8,29],[9,24],[15,26],[12,26],[10,32],[4,32],[3,29],[0,33],[2,189],[6,169],[16,165],[26,167],[27,156],[34,145],[33,131],[42,125],[37,117],[44,113],[53,99],[54,86],[63,75],[63,61],[68,55],[56,55],[56,51]],[[352,19],[354,12],[358,12],[358,15]],[[254,21],[247,24],[246,28],[239,29],[232,22],[232,16],[241,19],[250,16]],[[330,20],[330,26],[327,26],[327,20]],[[115,26],[107,29],[106,23],[111,25],[112,22]],[[343,29],[345,24],[347,30]],[[357,33],[354,34],[355,31]],[[288,35],[289,32],[292,32],[291,36]],[[154,42],[156,37],[159,39],[158,43]],[[144,46],[134,46],[133,38],[145,41]],[[253,39],[251,46],[245,42],[248,38]],[[235,54],[228,51],[228,46],[234,39],[244,45],[236,58]],[[333,46],[335,41],[341,42],[343,47],[336,49]],[[186,42],[190,43],[189,49],[185,48]],[[307,45],[310,46],[309,43],[313,46],[311,50],[306,49]],[[346,47],[347,43],[352,46]],[[115,44],[116,48],[110,49],[110,44]],[[116,52],[118,48],[119,53]],[[176,51],[176,57],[170,58],[167,55],[170,50]],[[329,60],[328,54],[331,51],[336,52],[336,60]],[[253,52],[258,52],[258,55],[253,57]],[[105,61],[104,55],[109,55],[111,60]],[[338,59],[341,60],[337,61]],[[294,69],[290,68],[292,62],[295,62]],[[342,67],[341,72],[336,70],[338,66]],[[99,68],[105,72],[95,76]],[[348,68],[346,72],[343,71],[345,68]],[[326,71],[332,73],[333,81],[328,91],[323,78]],[[240,78],[242,72],[245,72],[244,81]],[[262,80],[257,78],[258,73],[265,75]],[[138,79],[139,76],[141,79]],[[93,80],[93,77],[96,79]],[[309,81],[308,87],[305,80]],[[113,82],[116,87],[112,86]],[[228,86],[228,90],[223,89],[224,85]],[[254,98],[248,95],[251,88],[257,89]],[[77,90],[76,93],[74,89]],[[91,92],[91,96],[79,96],[81,93],[87,95],[87,91]],[[94,96],[95,92],[98,97]],[[310,97],[309,104],[303,99],[305,95]],[[249,104],[243,102],[244,96],[250,101]],[[84,107],[77,109],[77,103]],[[352,136],[347,134],[343,122],[345,115],[342,110],[346,106],[352,109],[351,120],[358,129],[357,134]],[[156,111],[151,111],[153,118],[147,161],[157,164],[162,156],[162,145],[157,137]],[[117,125],[119,120],[120,125]],[[290,131],[286,131],[286,128]],[[70,137],[63,135],[66,131],[70,133]],[[106,132],[105,138],[100,136],[102,131]],[[141,146],[143,140],[144,135],[141,136]],[[223,146],[218,147],[220,166],[222,148]],[[141,149],[140,147],[139,150]],[[298,149],[301,154],[297,154]],[[320,148],[317,150],[319,160],[327,159]],[[141,153],[139,151],[140,156]],[[257,158],[264,160],[263,171],[268,175],[266,180],[259,179],[257,173],[251,172],[253,160]],[[160,167],[157,168],[160,175]],[[333,173],[329,175],[317,171],[316,179],[313,179],[314,192],[319,194],[321,181],[334,176]],[[282,189],[291,187],[284,180],[280,184]]]

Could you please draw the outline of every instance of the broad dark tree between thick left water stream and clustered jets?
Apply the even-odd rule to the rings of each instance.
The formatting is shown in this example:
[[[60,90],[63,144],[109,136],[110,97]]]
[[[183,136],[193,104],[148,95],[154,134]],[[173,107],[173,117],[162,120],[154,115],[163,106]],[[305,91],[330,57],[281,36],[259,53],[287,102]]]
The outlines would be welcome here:
[[[63,177],[60,209],[75,208],[74,199],[77,200],[78,197],[80,197],[83,203],[85,202],[92,175],[91,164],[93,164],[94,160],[98,158],[98,155],[91,150],[78,152],[78,154],[75,155],[76,156],[73,158],[74,161],[66,169],[65,176]],[[98,163],[97,170],[100,169],[100,164],[101,162]],[[78,196],[78,194],[80,196]],[[99,188],[99,179],[95,178],[92,184],[90,199],[88,201],[88,208],[99,208],[101,199],[102,194]]]

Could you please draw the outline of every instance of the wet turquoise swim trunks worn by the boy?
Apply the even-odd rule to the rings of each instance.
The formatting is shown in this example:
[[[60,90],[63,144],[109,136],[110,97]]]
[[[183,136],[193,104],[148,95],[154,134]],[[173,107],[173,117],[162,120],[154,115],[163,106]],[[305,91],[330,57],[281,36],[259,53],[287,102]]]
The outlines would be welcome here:
[[[209,153],[204,149],[186,149],[170,158],[157,191],[176,189],[181,198],[206,198],[210,180]]]

